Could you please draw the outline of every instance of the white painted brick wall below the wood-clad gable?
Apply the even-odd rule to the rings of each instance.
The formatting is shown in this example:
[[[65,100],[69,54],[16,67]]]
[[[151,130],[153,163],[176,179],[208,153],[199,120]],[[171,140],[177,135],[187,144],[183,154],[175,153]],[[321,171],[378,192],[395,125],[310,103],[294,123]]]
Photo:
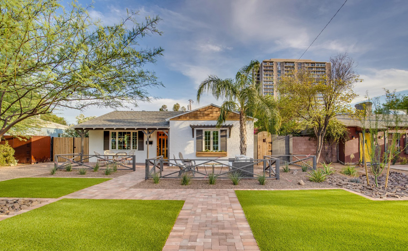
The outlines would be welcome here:
[[[239,151],[239,121],[237,120],[227,120],[225,124],[233,124],[231,128],[231,137],[228,137],[229,132],[227,131],[227,156],[226,157],[197,157],[196,156],[196,144],[195,135],[192,135],[192,130],[190,124],[217,124],[216,120],[170,120],[170,152],[169,158],[172,159],[173,155],[178,158],[179,152],[183,154],[184,158],[187,159],[228,159],[234,158],[235,155],[240,154]],[[203,129],[204,128],[200,128]],[[205,128],[206,129],[206,128]],[[215,129],[215,128],[214,128]],[[253,122],[248,123],[247,129],[247,139],[246,139],[246,154],[253,158],[254,152],[254,135],[253,135]],[[197,129],[195,129],[197,130]],[[229,129],[227,129],[229,130]],[[202,151],[199,149],[199,151]]]

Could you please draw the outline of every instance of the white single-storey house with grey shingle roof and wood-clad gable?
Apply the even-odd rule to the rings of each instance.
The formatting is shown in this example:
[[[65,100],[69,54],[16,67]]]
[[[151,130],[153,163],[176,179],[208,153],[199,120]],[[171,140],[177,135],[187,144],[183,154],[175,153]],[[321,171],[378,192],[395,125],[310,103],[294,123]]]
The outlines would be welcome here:
[[[73,126],[89,131],[89,153],[135,151],[146,157],[188,159],[234,158],[239,154],[239,113],[217,128],[220,107],[209,104],[193,111],[113,111]],[[149,142],[147,140],[149,137]],[[253,122],[247,124],[247,155],[253,158]]]

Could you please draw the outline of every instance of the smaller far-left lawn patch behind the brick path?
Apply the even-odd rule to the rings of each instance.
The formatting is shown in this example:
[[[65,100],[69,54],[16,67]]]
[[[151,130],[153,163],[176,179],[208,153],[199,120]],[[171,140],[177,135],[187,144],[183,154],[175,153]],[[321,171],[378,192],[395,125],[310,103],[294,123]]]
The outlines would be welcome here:
[[[102,183],[105,178],[18,178],[0,182],[0,197],[58,198]]]

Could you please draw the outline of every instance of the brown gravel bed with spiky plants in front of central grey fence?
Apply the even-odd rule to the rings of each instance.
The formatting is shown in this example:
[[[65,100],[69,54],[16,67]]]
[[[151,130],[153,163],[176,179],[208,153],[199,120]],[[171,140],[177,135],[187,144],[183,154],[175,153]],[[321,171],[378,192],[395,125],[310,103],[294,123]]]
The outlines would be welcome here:
[[[144,189],[297,189],[297,188],[334,188],[328,184],[328,182],[315,183],[308,181],[306,172],[298,171],[297,174],[293,174],[293,171],[289,173],[280,173],[279,180],[267,180],[265,185],[260,185],[259,182],[254,180],[241,180],[238,185],[234,186],[229,179],[217,179],[214,185],[208,184],[208,180],[204,179],[191,179],[191,184],[183,186],[180,184],[180,179],[174,180],[160,180],[159,184],[154,184],[152,179],[142,181],[135,184],[130,188],[144,188]],[[304,181],[304,185],[299,185],[299,180]]]

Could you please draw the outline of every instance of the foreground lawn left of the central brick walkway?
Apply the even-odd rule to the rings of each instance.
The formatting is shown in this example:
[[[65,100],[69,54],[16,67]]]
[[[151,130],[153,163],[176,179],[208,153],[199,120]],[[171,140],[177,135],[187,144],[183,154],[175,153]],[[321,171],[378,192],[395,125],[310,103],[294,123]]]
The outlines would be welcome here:
[[[180,200],[62,199],[0,221],[0,247],[8,251],[159,251],[183,204]]]

